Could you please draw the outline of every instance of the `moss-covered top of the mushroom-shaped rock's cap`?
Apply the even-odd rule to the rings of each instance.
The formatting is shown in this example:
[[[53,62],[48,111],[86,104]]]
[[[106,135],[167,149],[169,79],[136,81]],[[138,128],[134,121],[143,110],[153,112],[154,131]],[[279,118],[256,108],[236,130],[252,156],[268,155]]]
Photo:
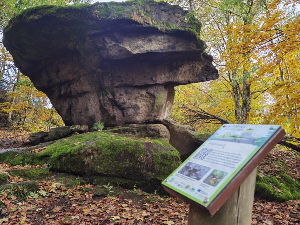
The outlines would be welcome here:
[[[161,14],[160,8],[167,8],[170,15]],[[167,12],[167,10],[164,10]],[[173,15],[172,15],[173,14]],[[174,14],[180,14],[182,21],[174,20]],[[20,11],[16,16],[10,20],[9,26],[5,29],[7,32],[11,26],[20,21],[34,21],[42,17],[53,16],[57,19],[74,20],[74,29],[88,30],[91,26],[95,26],[91,20],[119,20],[127,19],[135,21],[143,26],[154,27],[162,32],[176,32],[182,30],[197,36],[201,32],[202,24],[196,19],[192,13],[182,10],[177,5],[170,5],[164,1],[152,0],[132,0],[125,2],[96,2],[95,4],[74,4],[74,5],[40,5],[29,7]],[[79,21],[82,21],[81,23]],[[86,22],[89,21],[89,22]],[[70,29],[73,29],[70,27]],[[200,45],[205,45],[199,39]]]

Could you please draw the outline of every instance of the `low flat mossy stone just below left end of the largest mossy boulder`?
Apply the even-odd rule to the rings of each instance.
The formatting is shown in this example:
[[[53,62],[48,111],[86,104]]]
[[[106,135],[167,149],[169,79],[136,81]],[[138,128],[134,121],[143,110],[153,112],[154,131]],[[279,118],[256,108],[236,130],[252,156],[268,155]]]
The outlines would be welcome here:
[[[49,176],[49,169],[47,168],[35,168],[35,169],[21,169],[21,170],[7,170],[10,176],[38,180]]]

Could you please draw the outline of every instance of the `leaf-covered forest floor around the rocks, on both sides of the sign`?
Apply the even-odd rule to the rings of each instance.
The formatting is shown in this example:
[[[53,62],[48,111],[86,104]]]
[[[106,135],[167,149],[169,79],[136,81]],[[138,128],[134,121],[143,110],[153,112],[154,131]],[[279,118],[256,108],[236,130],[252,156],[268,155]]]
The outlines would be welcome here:
[[[27,132],[20,134],[0,129],[0,149],[24,147],[24,143],[29,141],[28,136]],[[11,141],[15,142],[7,144]],[[289,175],[300,180],[299,156],[281,149],[273,149],[258,170],[273,173],[272,162],[279,159],[291,168]],[[46,166],[9,166],[2,163],[0,172]],[[109,186],[103,187],[106,195],[96,196],[96,188],[91,184],[67,186],[61,184],[57,177],[57,173],[52,173],[48,179],[38,181],[37,193],[17,188],[2,193],[0,201],[4,207],[0,224],[187,224],[189,206],[177,198],[143,193],[134,187],[133,190],[121,187],[109,190]],[[9,179],[11,183],[24,181],[12,176]],[[255,198],[252,224],[300,225],[300,200],[279,203]]]

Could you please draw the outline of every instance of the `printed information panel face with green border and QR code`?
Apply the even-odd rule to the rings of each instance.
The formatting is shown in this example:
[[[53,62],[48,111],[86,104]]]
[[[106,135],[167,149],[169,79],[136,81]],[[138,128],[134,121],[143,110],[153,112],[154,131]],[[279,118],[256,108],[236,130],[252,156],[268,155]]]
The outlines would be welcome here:
[[[207,206],[279,128],[224,124],[162,184]]]

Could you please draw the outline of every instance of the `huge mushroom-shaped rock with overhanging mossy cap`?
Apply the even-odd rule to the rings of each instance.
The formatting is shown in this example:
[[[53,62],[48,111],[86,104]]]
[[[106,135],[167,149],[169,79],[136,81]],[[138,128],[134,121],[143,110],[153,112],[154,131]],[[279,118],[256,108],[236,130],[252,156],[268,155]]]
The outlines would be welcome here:
[[[42,5],[21,11],[4,45],[65,125],[170,116],[174,86],[217,79],[201,23],[155,1]]]

